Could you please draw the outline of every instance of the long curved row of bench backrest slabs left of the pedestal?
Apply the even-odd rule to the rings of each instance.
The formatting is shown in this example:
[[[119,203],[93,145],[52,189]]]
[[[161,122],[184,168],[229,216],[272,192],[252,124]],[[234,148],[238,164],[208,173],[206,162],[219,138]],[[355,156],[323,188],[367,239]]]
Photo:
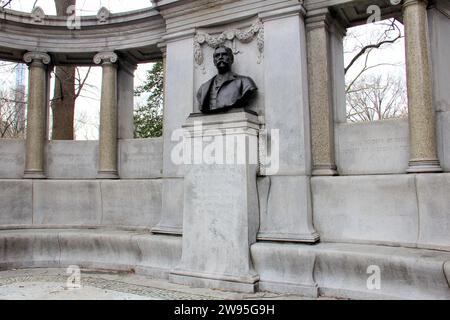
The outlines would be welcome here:
[[[150,229],[161,180],[0,180],[0,228]]]

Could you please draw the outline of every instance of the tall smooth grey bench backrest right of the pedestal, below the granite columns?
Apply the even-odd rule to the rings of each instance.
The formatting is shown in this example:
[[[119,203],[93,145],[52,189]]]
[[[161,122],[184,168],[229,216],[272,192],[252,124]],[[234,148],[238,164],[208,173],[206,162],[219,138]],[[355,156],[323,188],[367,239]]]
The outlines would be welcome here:
[[[313,218],[322,241],[450,251],[450,175],[317,177]]]

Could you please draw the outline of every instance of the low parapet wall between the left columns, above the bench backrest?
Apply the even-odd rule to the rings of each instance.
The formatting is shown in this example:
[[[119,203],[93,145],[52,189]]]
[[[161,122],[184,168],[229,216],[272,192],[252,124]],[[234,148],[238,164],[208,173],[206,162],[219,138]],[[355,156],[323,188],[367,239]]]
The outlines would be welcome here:
[[[162,174],[162,138],[119,140],[121,179],[153,179]],[[0,140],[0,179],[21,179],[25,140]],[[98,141],[49,141],[46,171],[49,179],[96,179]]]

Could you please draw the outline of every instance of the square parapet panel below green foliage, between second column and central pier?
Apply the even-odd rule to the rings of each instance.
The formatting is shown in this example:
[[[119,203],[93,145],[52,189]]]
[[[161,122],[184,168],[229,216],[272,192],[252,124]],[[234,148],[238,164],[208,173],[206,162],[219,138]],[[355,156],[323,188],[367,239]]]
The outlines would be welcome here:
[[[119,140],[121,179],[159,178],[162,175],[162,138]]]

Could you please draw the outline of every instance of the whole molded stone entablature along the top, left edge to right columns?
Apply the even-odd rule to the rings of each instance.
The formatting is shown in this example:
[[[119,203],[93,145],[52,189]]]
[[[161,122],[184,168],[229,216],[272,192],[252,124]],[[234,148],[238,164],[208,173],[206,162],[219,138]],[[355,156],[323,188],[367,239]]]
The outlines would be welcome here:
[[[68,28],[64,17],[42,17],[40,14],[36,22],[35,13],[3,10],[0,59],[18,61],[23,50],[28,50],[52,53],[55,64],[90,64],[96,52],[120,51],[133,56],[137,62],[146,62],[161,56],[157,44],[165,41],[166,37],[276,12],[284,14],[286,10],[299,6],[308,11],[336,7],[339,20],[345,25],[360,23],[367,16],[360,10],[364,3],[355,0],[223,0],[213,3],[178,0],[158,1],[152,8],[109,15],[100,10],[95,16],[79,17],[77,28]],[[401,12],[401,6],[386,7],[380,2],[380,7],[385,16],[398,16]],[[82,53],[92,56],[85,57]]]

